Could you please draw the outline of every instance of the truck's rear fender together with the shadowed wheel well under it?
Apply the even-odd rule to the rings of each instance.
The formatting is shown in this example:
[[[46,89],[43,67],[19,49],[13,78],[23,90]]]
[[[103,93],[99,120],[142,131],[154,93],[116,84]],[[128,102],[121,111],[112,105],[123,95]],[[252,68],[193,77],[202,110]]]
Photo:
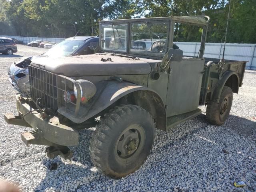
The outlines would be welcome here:
[[[231,81],[231,80],[234,82],[231,84],[230,83],[226,84],[228,81]],[[216,101],[216,102],[220,101],[220,94],[225,85],[230,86],[232,88],[232,92],[238,93],[239,78],[238,78],[237,72],[235,71],[224,72],[224,74],[222,75],[222,78],[218,81],[218,85],[214,89],[212,101]]]

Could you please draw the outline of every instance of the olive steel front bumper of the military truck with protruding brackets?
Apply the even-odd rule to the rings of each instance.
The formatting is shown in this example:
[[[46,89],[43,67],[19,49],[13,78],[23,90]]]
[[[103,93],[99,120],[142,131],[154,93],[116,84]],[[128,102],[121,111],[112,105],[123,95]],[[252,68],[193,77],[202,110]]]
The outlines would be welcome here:
[[[31,101],[32,102],[32,101]],[[42,118],[42,113],[35,111],[29,104],[28,99],[16,95],[17,110],[20,114],[19,120],[13,116],[8,118],[5,114],[5,120],[8,124],[18,124],[24,126],[26,122],[29,126],[34,128],[36,132],[31,139],[31,135],[26,137],[22,135],[22,140],[28,146],[28,144],[40,144],[51,146],[76,146],[78,145],[79,134],[78,131],[61,124],[59,118],[54,116],[53,118]],[[20,123],[17,123],[19,122]],[[24,122],[25,121],[25,122]],[[25,123],[25,124],[26,124]],[[26,126],[26,125],[25,125]]]

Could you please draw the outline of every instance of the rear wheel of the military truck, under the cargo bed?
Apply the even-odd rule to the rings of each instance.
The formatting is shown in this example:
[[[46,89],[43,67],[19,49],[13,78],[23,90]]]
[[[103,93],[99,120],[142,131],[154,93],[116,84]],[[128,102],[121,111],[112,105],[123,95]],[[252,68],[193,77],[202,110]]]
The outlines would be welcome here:
[[[207,104],[206,118],[210,124],[222,125],[229,116],[233,101],[232,89],[224,86],[220,94],[220,102]]]

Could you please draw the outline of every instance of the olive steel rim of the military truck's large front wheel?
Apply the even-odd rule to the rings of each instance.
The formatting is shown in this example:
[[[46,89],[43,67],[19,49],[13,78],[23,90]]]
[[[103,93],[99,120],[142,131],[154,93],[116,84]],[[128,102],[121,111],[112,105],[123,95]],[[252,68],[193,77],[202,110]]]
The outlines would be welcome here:
[[[114,149],[116,160],[127,161],[137,156],[145,144],[145,131],[138,124],[128,126],[118,137]]]

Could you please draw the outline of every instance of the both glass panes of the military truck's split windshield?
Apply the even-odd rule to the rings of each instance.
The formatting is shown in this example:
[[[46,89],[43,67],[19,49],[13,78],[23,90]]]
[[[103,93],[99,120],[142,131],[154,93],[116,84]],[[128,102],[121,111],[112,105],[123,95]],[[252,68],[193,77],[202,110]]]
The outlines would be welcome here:
[[[102,24],[100,28],[100,48],[110,52],[163,57],[168,48],[168,22],[136,22],[131,24]]]

